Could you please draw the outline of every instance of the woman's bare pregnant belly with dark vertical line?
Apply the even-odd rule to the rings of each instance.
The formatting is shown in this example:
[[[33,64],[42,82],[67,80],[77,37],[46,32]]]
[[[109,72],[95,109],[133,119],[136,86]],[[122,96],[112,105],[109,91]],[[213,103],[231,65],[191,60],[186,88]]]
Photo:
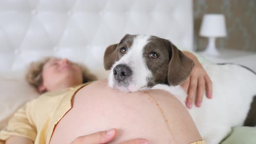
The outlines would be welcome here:
[[[189,144],[202,138],[186,108],[163,90],[121,93],[107,80],[80,89],[72,108],[56,125],[50,144],[70,144],[76,137],[117,129],[117,144],[145,138],[150,144]]]

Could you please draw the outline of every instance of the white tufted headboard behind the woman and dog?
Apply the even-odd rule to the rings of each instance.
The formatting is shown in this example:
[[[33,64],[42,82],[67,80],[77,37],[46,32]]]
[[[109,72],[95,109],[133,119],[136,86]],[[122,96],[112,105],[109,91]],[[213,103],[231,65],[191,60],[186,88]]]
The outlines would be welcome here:
[[[192,0],[0,0],[0,72],[44,56],[103,72],[105,48],[127,33],[192,50]]]

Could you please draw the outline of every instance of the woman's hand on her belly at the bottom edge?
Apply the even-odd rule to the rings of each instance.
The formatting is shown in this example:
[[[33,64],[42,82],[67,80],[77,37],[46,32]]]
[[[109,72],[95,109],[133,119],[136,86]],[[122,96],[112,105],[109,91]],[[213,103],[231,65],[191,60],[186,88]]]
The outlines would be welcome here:
[[[108,131],[99,131],[94,134],[77,137],[71,144],[107,144],[112,141],[116,135],[116,129]],[[133,139],[120,144],[149,144],[145,139]]]

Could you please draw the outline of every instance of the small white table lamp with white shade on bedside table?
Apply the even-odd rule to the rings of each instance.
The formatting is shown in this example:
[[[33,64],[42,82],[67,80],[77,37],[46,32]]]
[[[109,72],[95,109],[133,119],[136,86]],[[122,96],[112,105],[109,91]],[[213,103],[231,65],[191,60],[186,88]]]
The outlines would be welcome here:
[[[223,14],[205,14],[200,28],[200,36],[209,38],[205,54],[220,55],[215,46],[215,39],[226,36],[225,16]]]

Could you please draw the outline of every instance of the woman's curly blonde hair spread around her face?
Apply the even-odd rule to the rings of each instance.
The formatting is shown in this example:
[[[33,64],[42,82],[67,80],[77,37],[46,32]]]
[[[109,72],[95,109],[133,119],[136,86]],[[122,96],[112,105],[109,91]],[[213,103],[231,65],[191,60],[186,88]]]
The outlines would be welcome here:
[[[54,59],[55,57],[46,57],[44,59],[39,60],[38,62],[31,62],[28,70],[26,72],[26,80],[30,85],[38,88],[39,85],[43,83],[43,66],[50,59]],[[89,72],[89,69],[82,65],[81,63],[72,62],[74,65],[77,65],[82,72],[83,83],[91,82],[97,79],[95,75]]]

